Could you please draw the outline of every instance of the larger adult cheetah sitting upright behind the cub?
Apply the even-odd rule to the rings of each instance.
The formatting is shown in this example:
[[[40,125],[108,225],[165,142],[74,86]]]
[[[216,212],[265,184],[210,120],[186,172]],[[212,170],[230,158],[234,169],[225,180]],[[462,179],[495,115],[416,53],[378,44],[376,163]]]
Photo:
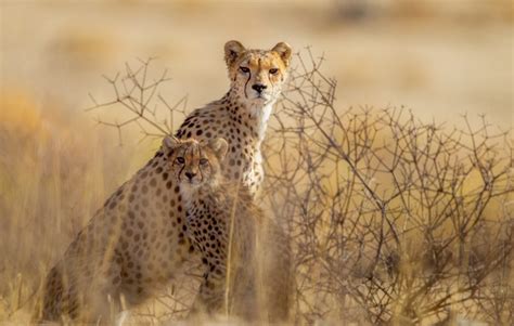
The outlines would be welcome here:
[[[262,181],[260,144],[272,106],[287,77],[292,50],[224,45],[230,90],[195,109],[178,138],[229,141],[221,172],[255,195]],[[187,235],[180,187],[166,170],[170,153],[155,156],[99,209],[50,270],[35,321],[69,318],[110,323],[117,312],[144,302],[176,278],[198,252]]]

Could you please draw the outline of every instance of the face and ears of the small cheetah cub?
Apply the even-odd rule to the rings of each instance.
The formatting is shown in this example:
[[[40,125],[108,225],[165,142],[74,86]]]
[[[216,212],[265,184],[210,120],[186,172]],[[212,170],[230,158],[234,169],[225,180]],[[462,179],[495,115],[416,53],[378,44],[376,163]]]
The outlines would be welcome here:
[[[220,162],[228,147],[224,139],[214,139],[207,143],[174,136],[163,140],[163,151],[168,157],[170,171],[181,186],[195,187],[217,182],[221,175]]]

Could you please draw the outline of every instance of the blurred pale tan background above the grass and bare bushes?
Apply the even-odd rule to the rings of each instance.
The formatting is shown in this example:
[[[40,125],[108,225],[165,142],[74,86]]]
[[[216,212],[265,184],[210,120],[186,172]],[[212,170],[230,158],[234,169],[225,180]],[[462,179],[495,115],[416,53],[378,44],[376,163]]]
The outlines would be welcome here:
[[[169,97],[220,97],[227,40],[288,42],[324,54],[345,106],[400,106],[420,118],[487,114],[512,122],[511,0],[2,0],[2,91],[81,114],[100,76],[157,56]]]

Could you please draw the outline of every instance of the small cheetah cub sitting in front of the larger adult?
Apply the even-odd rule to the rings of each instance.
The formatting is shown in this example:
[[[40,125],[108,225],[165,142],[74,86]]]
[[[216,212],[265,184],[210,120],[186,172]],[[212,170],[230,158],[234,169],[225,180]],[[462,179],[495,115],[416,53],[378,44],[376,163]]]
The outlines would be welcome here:
[[[187,210],[188,234],[204,264],[192,314],[285,321],[291,302],[291,250],[249,191],[221,177],[228,143],[166,138],[170,169]]]

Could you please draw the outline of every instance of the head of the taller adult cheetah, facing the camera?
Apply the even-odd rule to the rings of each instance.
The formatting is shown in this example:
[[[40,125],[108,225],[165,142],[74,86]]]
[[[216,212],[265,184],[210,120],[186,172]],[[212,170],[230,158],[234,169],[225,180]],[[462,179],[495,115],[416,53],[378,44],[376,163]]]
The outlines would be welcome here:
[[[287,77],[291,47],[280,42],[271,50],[245,49],[239,41],[224,44],[231,88],[241,101],[264,106],[277,101]]]

